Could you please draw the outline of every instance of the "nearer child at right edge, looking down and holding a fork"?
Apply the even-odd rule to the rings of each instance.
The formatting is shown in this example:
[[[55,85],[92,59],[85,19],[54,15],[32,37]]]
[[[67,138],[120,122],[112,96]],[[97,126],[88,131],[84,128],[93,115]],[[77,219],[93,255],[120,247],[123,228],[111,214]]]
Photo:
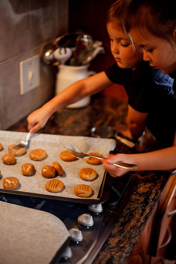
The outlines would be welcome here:
[[[139,47],[145,61],[164,74],[176,78],[176,2],[160,0],[130,0],[124,15],[127,32]],[[173,90],[176,90],[174,79]],[[174,116],[175,112],[170,113]],[[172,124],[170,124],[172,125]],[[168,126],[169,130],[170,127]],[[172,147],[142,154],[117,154],[104,161],[109,174],[118,177],[125,170],[114,169],[111,163],[123,161],[138,165],[138,170],[174,170],[176,139]]]

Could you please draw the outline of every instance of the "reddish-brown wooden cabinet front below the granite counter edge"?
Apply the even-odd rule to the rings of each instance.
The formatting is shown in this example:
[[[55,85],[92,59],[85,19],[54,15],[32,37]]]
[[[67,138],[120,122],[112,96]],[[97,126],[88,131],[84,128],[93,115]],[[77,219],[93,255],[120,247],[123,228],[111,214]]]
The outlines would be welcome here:
[[[176,214],[176,174],[170,175],[161,197],[135,247],[128,264],[162,263],[171,239],[171,221]]]

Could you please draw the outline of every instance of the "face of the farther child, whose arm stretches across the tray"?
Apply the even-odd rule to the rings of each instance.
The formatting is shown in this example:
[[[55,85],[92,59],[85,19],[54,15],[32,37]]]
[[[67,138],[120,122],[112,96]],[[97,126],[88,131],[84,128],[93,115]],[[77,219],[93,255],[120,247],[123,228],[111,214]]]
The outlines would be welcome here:
[[[143,61],[142,48],[135,45],[134,50],[125,33],[113,29],[111,23],[107,24],[107,32],[110,37],[110,49],[118,66],[122,69],[135,69]]]

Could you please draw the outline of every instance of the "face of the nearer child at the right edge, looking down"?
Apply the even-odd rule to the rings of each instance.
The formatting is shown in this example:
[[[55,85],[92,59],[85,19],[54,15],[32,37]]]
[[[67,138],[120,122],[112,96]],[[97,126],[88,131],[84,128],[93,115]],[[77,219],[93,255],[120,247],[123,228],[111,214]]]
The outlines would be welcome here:
[[[156,37],[148,30],[131,30],[131,37],[134,42],[142,47],[144,61],[149,61],[150,66],[159,69],[162,73],[176,71],[176,41],[171,43],[164,38]]]

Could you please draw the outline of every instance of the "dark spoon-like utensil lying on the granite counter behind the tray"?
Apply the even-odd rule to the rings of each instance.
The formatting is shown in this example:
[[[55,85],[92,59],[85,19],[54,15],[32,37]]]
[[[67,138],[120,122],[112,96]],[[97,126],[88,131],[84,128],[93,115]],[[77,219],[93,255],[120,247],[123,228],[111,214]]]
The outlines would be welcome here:
[[[91,134],[93,137],[115,138],[131,148],[135,147],[134,142],[128,140],[127,138],[121,137],[118,132],[116,132],[112,127],[107,125],[93,127],[91,129]]]

